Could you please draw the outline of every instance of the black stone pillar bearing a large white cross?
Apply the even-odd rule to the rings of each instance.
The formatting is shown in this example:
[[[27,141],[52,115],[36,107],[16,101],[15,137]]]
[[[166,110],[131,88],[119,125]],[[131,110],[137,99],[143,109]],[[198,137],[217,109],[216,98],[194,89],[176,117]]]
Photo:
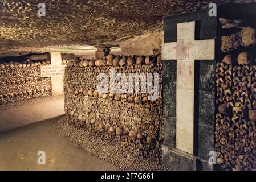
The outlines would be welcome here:
[[[218,21],[208,11],[164,19],[162,163],[171,170],[213,169]]]

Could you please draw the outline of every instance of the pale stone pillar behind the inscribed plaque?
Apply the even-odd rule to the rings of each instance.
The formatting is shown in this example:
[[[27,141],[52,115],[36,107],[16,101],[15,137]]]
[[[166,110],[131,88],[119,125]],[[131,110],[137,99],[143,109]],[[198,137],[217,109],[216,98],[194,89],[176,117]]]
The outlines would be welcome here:
[[[62,65],[62,55],[60,52],[48,53],[48,59],[52,66]],[[51,77],[52,96],[60,96],[64,94],[63,75]]]

